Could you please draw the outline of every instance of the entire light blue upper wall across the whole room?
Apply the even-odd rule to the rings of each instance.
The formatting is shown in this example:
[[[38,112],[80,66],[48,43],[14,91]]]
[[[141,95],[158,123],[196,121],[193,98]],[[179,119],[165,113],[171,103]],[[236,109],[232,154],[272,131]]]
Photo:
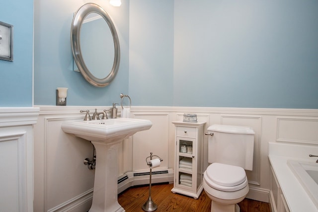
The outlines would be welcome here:
[[[34,0],[35,105],[55,105],[65,86],[68,105],[111,105],[123,92],[133,105],[318,109],[317,0],[96,0],[121,45],[120,70],[104,88],[69,70],[72,16],[85,2]],[[14,25],[1,107],[32,105],[32,6],[0,0],[0,20]]]

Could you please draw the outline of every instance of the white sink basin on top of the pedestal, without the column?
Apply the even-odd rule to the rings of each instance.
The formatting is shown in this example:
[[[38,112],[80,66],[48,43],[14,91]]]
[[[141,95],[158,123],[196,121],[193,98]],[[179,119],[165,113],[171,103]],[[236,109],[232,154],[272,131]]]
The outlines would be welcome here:
[[[93,121],[66,121],[62,123],[65,133],[88,141],[113,142],[128,138],[139,131],[152,127],[149,120],[143,119],[103,119]]]

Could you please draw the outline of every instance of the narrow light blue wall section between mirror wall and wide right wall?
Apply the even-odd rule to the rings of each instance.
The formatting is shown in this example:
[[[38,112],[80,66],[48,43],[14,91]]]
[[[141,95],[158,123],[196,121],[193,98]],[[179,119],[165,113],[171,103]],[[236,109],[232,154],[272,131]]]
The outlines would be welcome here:
[[[173,0],[131,0],[129,95],[134,105],[172,106]]]

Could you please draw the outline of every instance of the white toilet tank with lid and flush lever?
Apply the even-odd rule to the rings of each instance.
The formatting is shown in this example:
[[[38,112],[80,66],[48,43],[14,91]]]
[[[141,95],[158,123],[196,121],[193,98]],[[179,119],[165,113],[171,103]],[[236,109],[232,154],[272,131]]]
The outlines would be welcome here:
[[[209,163],[225,163],[253,170],[254,134],[252,128],[212,125],[209,133]]]

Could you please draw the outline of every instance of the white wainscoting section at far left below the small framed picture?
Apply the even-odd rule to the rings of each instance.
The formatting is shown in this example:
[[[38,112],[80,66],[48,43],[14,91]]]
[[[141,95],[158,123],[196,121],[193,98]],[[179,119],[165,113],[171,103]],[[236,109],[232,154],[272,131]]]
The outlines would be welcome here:
[[[0,211],[33,212],[33,132],[39,108],[0,110]]]

